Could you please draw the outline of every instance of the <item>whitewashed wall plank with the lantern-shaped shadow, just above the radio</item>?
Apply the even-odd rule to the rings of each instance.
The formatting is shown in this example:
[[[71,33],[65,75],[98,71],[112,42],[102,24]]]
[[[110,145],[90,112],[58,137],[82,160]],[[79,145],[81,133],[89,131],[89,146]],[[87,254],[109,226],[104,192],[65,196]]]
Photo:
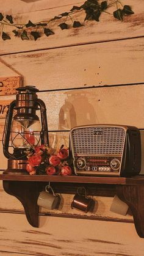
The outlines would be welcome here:
[[[98,123],[144,127],[143,85],[39,92],[37,94],[46,104],[49,131],[65,131],[74,126]],[[137,95],[136,99],[135,95]],[[0,119],[1,134],[3,130],[4,119]],[[60,145],[60,140],[63,144],[67,143],[67,133],[59,136],[60,134],[51,133],[51,145],[52,143]]]

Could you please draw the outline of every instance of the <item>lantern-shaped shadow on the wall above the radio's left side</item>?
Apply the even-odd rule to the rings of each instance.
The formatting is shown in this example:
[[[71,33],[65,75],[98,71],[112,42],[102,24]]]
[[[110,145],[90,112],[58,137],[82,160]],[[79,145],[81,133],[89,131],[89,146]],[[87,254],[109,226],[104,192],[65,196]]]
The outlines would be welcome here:
[[[88,101],[88,92],[73,90],[66,94],[65,103],[59,112],[59,130],[70,130],[74,126],[98,123],[95,109]]]

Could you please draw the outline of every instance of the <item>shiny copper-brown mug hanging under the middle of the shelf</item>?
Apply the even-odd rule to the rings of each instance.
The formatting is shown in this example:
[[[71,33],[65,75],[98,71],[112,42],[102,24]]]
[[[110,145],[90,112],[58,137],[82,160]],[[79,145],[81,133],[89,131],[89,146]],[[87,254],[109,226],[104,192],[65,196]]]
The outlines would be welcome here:
[[[84,191],[84,194],[82,194]],[[73,197],[73,201],[71,203],[71,209],[75,208],[77,210],[84,211],[87,213],[92,207],[94,208],[95,201],[89,197],[87,197],[87,192],[85,188],[78,188],[77,194]]]

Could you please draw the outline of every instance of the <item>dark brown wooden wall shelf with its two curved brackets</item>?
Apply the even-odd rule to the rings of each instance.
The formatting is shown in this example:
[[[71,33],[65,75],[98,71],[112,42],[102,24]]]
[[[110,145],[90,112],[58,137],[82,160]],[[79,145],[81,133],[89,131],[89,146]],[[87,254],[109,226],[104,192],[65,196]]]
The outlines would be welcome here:
[[[15,196],[23,204],[27,221],[33,227],[38,227],[39,207],[37,199],[40,191],[50,181],[56,186],[56,192],[73,194],[78,186],[85,186],[89,195],[109,196],[110,188],[131,209],[135,229],[141,238],[144,238],[144,177],[80,177],[80,176],[48,176],[48,175],[18,175],[1,174],[5,192]]]

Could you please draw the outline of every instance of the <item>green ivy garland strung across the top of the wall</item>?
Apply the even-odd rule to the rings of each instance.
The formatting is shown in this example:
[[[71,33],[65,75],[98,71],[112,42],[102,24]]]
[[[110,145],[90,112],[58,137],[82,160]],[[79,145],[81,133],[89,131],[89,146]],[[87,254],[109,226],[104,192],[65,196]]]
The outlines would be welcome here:
[[[117,9],[113,13],[107,12],[107,9],[109,9],[109,7],[112,7],[112,5],[115,5]],[[50,29],[52,23],[54,21],[61,20],[62,18],[65,19],[64,22],[60,22],[58,25],[62,30],[70,28],[70,26],[67,23],[68,20],[70,20],[73,23],[73,27],[81,27],[84,26],[84,24],[81,24],[79,21],[73,21],[72,18],[74,14],[79,12],[85,12],[86,15],[84,21],[99,21],[99,16],[103,12],[112,14],[114,18],[116,18],[117,20],[123,21],[123,16],[132,15],[134,13],[129,5],[123,6],[120,0],[109,2],[109,4],[108,1],[103,1],[99,3],[98,0],[87,0],[81,6],[74,5],[70,12],[61,13],[58,16],[49,19],[48,21],[39,21],[37,23],[32,23],[32,21],[29,20],[27,24],[16,24],[13,23],[12,15],[4,16],[2,15],[2,13],[0,13],[1,37],[4,41],[11,39],[10,35],[4,32],[4,29],[6,26],[13,26],[15,29],[13,29],[12,32],[15,35],[15,37],[20,37],[21,40],[29,40],[29,36],[32,35],[32,38],[34,38],[34,40],[36,41],[37,38],[41,37],[41,35],[43,34],[45,34],[47,37],[49,35],[53,35],[54,32]],[[31,28],[30,32],[27,29],[29,27]]]

